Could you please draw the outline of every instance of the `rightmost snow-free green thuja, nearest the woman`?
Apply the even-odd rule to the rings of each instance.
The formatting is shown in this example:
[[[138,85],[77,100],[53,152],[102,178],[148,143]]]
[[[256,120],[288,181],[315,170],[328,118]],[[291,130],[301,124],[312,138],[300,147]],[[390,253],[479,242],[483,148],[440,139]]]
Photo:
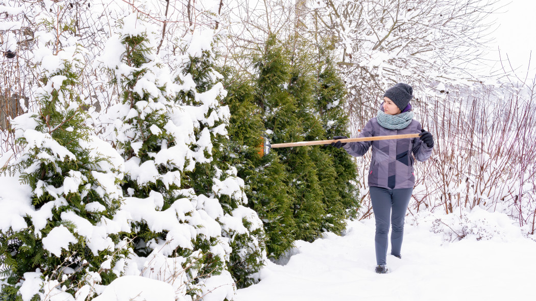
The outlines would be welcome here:
[[[347,134],[348,117],[343,109],[345,85],[338,76],[329,49],[308,41],[295,43],[292,56],[294,82],[292,94],[300,99],[306,140],[331,139]],[[308,49],[317,49],[307,51]],[[322,191],[321,230],[340,233],[346,220],[355,217],[359,201],[356,195],[356,166],[344,149],[331,146],[311,149],[320,190]]]

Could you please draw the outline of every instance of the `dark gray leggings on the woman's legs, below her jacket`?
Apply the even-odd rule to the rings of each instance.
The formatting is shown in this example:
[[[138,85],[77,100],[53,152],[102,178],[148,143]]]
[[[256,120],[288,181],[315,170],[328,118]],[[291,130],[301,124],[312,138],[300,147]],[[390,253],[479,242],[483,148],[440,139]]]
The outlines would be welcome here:
[[[391,254],[400,255],[402,238],[404,236],[404,217],[407,205],[410,203],[413,188],[385,189],[369,187],[370,201],[376,218],[376,262],[386,264],[389,224],[391,224]]]

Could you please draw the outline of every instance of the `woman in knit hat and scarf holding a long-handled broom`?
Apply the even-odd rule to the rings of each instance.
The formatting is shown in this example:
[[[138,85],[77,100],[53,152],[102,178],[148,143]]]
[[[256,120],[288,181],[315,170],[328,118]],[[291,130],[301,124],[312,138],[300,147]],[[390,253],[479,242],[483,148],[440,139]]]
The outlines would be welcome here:
[[[402,258],[400,249],[404,234],[404,217],[410,202],[415,175],[413,163],[426,161],[434,147],[432,134],[423,130],[413,119],[410,100],[413,88],[407,84],[396,84],[385,91],[384,102],[378,115],[370,119],[359,137],[388,136],[419,133],[419,138],[392,139],[343,143],[333,142],[337,148],[343,147],[352,156],[363,156],[372,145],[372,159],[368,174],[370,200],[376,219],[376,273],[387,273],[386,267],[389,223],[391,223],[391,255]],[[333,139],[344,139],[337,136]]]

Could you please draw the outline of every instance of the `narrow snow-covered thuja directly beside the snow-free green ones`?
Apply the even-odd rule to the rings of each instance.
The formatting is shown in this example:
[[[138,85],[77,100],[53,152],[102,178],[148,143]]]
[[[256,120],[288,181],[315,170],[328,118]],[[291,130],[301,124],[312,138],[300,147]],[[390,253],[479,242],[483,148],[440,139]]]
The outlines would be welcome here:
[[[266,258],[265,234],[258,214],[247,207],[244,180],[237,175],[234,161],[229,160],[229,108],[220,103],[227,92],[222,76],[215,70],[213,50],[216,37],[212,31],[193,34],[185,51],[184,69],[176,75],[182,91],[176,103],[193,106],[199,114],[195,134],[199,140],[209,138],[211,148],[206,149],[206,159],[197,160],[195,168],[184,174],[184,187],[218,198],[224,216],[218,219],[222,236],[228,239],[232,252],[227,262],[228,270],[239,287],[257,280],[252,278]],[[193,83],[190,84],[190,83]]]

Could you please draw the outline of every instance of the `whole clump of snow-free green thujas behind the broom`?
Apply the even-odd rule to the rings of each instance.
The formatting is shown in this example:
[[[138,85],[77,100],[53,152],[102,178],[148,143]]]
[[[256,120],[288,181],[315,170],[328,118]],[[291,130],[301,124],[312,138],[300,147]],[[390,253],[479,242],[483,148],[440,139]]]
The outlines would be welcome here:
[[[346,134],[344,81],[329,51],[307,41],[281,43],[270,35],[254,57],[252,77],[225,73],[231,112],[226,158],[247,184],[249,206],[262,218],[269,257],[277,259],[295,239],[340,233],[355,216],[356,167],[331,146],[272,149],[260,156],[262,136],[272,144],[324,140]]]

